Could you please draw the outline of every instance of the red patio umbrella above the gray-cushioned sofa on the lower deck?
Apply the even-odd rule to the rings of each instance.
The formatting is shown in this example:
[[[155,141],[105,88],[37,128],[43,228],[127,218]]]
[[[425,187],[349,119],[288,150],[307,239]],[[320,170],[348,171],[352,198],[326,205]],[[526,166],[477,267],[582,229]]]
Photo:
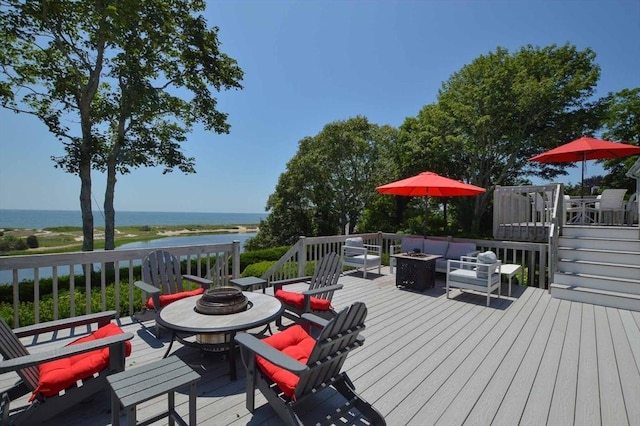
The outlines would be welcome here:
[[[422,172],[415,176],[387,183],[376,188],[381,194],[424,197],[425,209],[428,197],[471,196],[486,192],[484,188],[470,185],[455,179],[449,179],[433,172]],[[427,214],[425,210],[424,230],[427,232]]]

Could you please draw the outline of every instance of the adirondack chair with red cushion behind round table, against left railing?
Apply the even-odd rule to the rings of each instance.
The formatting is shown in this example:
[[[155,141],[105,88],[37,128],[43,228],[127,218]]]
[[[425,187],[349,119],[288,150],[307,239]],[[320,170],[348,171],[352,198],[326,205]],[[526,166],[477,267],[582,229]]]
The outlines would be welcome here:
[[[183,280],[196,283],[200,287],[195,290],[184,290]],[[142,281],[136,281],[134,285],[147,295],[142,307],[142,315],[146,312],[154,312],[157,316],[162,307],[185,297],[202,294],[211,286],[211,283],[212,281],[206,278],[182,275],[180,259],[168,251],[155,250],[142,260]],[[160,326],[157,323],[156,337],[160,337]]]

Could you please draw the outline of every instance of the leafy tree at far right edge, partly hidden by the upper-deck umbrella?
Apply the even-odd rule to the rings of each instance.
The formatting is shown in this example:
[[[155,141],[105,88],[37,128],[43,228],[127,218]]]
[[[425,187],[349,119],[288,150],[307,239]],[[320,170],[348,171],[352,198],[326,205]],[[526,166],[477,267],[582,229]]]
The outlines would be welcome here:
[[[605,99],[607,112],[604,119],[603,138],[640,146],[640,87],[624,89]],[[635,180],[626,176],[626,172],[638,157],[631,156],[604,161],[608,174],[602,185],[606,188],[626,188],[635,191]]]

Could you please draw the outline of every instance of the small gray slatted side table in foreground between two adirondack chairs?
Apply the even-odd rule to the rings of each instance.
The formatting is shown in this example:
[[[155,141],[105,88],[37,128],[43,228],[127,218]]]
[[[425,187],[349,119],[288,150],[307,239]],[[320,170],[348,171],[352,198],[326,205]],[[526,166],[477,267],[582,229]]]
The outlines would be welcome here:
[[[176,389],[189,386],[189,425],[196,426],[196,382],[200,375],[180,358],[172,356],[150,364],[107,376],[111,386],[111,424],[120,424],[120,405],[127,412],[127,424],[136,422],[136,406],[160,395],[168,394],[168,409],[141,422],[148,425],[169,418],[169,425],[177,421],[185,424],[175,410]]]

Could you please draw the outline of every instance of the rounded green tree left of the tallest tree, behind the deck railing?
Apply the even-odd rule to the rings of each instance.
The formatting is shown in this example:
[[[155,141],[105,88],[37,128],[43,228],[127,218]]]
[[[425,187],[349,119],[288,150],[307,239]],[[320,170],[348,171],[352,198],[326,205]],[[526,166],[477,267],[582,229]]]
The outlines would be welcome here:
[[[267,219],[250,247],[288,245],[301,235],[335,235],[355,225],[381,182],[379,147],[394,129],[364,117],[327,124],[303,138],[267,200]]]

